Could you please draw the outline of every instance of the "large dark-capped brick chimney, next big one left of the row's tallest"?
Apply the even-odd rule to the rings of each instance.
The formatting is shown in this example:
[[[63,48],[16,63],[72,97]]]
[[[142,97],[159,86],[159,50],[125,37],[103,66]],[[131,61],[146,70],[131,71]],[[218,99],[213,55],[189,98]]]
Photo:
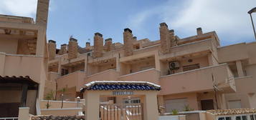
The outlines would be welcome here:
[[[133,31],[131,29],[124,29],[123,32],[123,44],[125,56],[133,55]]]

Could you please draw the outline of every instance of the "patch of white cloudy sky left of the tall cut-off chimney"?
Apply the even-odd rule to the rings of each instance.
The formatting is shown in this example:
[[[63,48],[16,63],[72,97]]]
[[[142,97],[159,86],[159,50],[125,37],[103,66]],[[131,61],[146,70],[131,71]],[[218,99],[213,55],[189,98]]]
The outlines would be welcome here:
[[[0,14],[34,17],[37,0],[1,0]]]

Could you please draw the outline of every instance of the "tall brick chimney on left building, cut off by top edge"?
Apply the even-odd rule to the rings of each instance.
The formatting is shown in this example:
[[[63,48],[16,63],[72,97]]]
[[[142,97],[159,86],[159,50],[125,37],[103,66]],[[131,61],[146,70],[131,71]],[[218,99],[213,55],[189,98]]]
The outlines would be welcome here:
[[[37,19],[36,24],[47,27],[47,18],[49,11],[49,0],[37,0]]]

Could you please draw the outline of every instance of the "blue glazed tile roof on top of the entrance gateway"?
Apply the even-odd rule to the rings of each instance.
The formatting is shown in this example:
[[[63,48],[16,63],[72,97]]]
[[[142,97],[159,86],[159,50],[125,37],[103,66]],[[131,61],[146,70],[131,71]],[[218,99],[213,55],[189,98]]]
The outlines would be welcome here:
[[[161,86],[146,81],[92,81],[85,84],[80,91],[85,90],[142,90],[160,91]]]

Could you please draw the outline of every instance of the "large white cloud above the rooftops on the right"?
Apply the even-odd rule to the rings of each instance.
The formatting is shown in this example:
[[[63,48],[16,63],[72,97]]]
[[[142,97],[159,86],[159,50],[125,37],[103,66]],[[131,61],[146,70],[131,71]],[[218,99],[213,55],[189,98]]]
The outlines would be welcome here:
[[[176,4],[174,4],[176,2]],[[193,35],[197,27],[203,31],[217,31],[220,36],[229,36],[222,41],[236,42],[253,36],[250,16],[247,11],[255,7],[255,0],[169,0],[161,6],[141,11],[131,18],[131,26],[140,29],[148,17],[159,16],[186,36]],[[135,21],[137,20],[137,21]],[[256,17],[255,17],[256,21]],[[245,41],[245,40],[244,40]]]

